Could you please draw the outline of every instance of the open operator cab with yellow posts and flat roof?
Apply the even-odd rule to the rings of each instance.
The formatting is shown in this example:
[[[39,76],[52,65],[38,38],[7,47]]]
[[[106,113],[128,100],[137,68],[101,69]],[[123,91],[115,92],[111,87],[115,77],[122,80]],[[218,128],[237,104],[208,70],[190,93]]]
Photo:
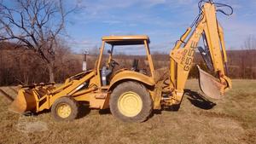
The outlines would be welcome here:
[[[146,49],[147,61],[150,67],[150,74],[153,74],[154,66],[153,61],[150,55],[150,50],[148,48],[148,43],[150,43],[149,37],[146,35],[137,35],[137,36],[108,36],[102,37],[102,48],[101,48],[101,60],[99,63],[102,63],[102,60],[105,62],[102,63],[100,74],[102,80],[102,86],[107,86],[110,83],[112,76],[117,74],[118,72],[122,71],[133,71],[133,72],[140,72],[146,74],[145,70],[139,69],[139,61],[137,58],[131,61],[131,66],[125,66],[122,62],[125,60],[125,57],[119,57],[116,60],[113,60],[113,51],[114,49],[119,49],[120,46],[128,46],[125,49],[129,49],[133,45],[144,45],[144,49]],[[110,47],[110,48],[108,48]],[[124,48],[124,47],[123,47]],[[108,54],[104,53],[104,49],[108,49]],[[141,48],[140,48],[141,49]],[[107,57],[108,58],[104,58]],[[130,59],[130,58],[129,58]],[[120,64],[119,64],[120,63]],[[142,63],[142,62],[141,62]],[[118,70],[116,70],[119,67]],[[120,68],[121,67],[121,68]]]

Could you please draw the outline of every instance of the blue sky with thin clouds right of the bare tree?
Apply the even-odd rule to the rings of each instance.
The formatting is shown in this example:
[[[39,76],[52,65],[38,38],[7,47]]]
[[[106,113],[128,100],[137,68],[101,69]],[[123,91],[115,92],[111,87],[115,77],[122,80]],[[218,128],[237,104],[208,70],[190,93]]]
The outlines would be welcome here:
[[[102,36],[145,34],[153,51],[169,52],[198,14],[199,0],[79,0],[83,9],[68,18],[70,47],[81,52],[99,48]],[[215,0],[230,4],[234,14],[218,14],[227,49],[240,49],[256,34],[256,0]],[[72,6],[75,1],[68,2]]]

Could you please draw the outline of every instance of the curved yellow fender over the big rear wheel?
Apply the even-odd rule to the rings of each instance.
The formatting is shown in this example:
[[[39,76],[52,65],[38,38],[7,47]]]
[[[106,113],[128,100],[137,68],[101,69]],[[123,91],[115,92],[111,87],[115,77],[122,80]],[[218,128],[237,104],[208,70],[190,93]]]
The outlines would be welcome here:
[[[140,72],[123,71],[123,72],[119,72],[111,79],[109,89],[112,89],[113,85],[123,80],[136,80],[138,82],[141,82],[143,84],[148,84],[150,86],[153,86],[155,84],[154,78],[148,77]]]

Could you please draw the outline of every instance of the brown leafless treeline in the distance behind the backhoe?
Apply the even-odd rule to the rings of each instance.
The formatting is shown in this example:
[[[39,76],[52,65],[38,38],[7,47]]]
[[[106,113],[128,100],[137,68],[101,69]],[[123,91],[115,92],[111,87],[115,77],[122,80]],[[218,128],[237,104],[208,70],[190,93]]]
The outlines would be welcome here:
[[[82,72],[84,56],[73,54],[70,49],[56,51],[55,82],[62,83],[73,74]],[[230,78],[256,78],[256,50],[228,51],[228,69]],[[107,56],[107,55],[106,55]],[[95,67],[97,55],[87,56],[87,67]],[[114,55],[113,59],[119,62],[117,68],[131,68],[132,60],[139,60],[139,68],[148,70],[146,56]],[[164,54],[153,54],[155,69],[168,67],[170,58]],[[200,54],[195,55],[195,63],[207,69]],[[148,70],[149,71],[149,70]],[[190,71],[189,78],[197,78],[195,65]],[[49,72],[44,62],[34,55],[34,51],[15,48],[10,43],[0,44],[0,85],[34,84],[49,82]]]

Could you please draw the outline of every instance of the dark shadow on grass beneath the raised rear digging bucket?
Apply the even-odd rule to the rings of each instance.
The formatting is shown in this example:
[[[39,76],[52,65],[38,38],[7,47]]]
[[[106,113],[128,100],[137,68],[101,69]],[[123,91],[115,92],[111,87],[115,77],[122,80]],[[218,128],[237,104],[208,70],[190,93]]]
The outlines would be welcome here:
[[[213,103],[212,101],[207,100],[207,98],[204,97],[203,95],[195,91],[191,91],[190,89],[185,89],[184,94],[188,95],[188,100],[195,107],[209,110],[209,109],[212,109],[212,107],[216,106],[216,103]]]

